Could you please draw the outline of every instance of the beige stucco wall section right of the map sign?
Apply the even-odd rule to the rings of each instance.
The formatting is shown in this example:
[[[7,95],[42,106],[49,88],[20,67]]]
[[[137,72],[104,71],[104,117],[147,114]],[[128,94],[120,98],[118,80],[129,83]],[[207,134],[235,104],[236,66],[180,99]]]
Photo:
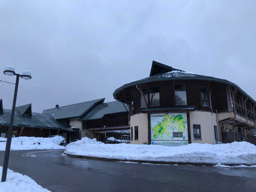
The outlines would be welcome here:
[[[190,111],[189,112],[190,119],[190,133],[191,133],[191,142],[192,143],[209,143],[215,144],[213,138],[213,126],[212,126],[212,112],[208,111]],[[201,125],[201,138],[202,140],[194,140],[193,134],[193,124]],[[217,126],[216,114],[213,113],[213,125]],[[218,137],[220,138],[218,128]]]

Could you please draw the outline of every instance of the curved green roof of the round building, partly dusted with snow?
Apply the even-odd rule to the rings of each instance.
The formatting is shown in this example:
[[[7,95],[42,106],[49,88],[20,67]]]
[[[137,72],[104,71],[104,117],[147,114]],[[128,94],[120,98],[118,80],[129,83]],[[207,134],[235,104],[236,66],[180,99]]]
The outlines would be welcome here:
[[[153,65],[153,64],[152,64]],[[249,100],[254,102],[256,104],[256,101],[250,97],[246,92],[244,92],[238,85],[226,80],[226,79],[219,79],[211,76],[204,76],[204,75],[198,75],[195,73],[185,72],[185,71],[179,71],[174,70],[171,72],[166,73],[160,73],[153,76],[149,76],[144,79],[140,79],[138,81],[134,81],[132,83],[124,84],[123,86],[119,87],[115,90],[113,93],[113,96],[116,100],[121,101],[117,98],[117,93],[122,91],[123,89],[126,89],[128,87],[135,86],[136,84],[145,84],[145,83],[151,83],[151,82],[157,82],[157,81],[170,81],[170,80],[202,80],[202,81],[213,81],[221,84],[230,85],[237,89],[238,92],[248,97]]]

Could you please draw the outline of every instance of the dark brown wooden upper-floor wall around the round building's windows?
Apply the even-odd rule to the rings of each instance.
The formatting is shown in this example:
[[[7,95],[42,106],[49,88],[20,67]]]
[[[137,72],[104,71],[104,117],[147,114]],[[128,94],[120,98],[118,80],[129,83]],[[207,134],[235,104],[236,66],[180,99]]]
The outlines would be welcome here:
[[[175,80],[175,84],[185,84],[186,93],[187,93],[187,106],[196,106],[196,110],[201,110],[201,86],[207,87],[208,81],[198,81],[198,80]],[[170,108],[170,107],[179,107],[175,106],[175,92],[174,92],[174,83],[173,81],[160,81],[153,82],[148,84],[142,84],[141,88],[149,88],[159,86],[160,92],[160,108]],[[135,87],[135,86],[134,86]],[[140,91],[138,89],[133,89],[133,107],[134,114],[140,113]],[[209,92],[211,91],[212,99],[212,110],[218,110],[218,112],[227,112],[228,103],[227,103],[227,94],[226,86],[222,84],[217,84],[210,82],[208,88],[208,98]],[[210,99],[210,98],[209,98]],[[209,102],[210,106],[210,102]],[[155,107],[154,107],[155,108]],[[211,111],[210,107],[204,107],[202,110]]]

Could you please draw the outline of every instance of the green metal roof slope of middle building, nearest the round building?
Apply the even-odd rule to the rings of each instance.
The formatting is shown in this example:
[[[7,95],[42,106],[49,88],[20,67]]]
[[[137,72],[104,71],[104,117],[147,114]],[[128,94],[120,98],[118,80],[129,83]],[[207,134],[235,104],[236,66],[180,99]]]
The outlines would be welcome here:
[[[128,106],[124,104],[128,109]],[[87,114],[78,119],[78,121],[87,121],[92,119],[101,119],[105,115],[127,112],[122,102],[112,101],[108,103],[100,103],[92,108]]]

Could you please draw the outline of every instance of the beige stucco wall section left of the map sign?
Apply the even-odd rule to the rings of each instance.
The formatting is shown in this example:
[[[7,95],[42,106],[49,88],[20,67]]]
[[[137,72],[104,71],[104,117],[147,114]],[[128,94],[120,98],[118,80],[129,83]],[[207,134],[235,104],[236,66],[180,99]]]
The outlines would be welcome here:
[[[130,126],[132,127],[132,140],[131,144],[148,144],[148,114],[135,114],[131,116],[131,123]],[[134,126],[138,126],[138,140],[134,140],[135,138],[135,129]]]

